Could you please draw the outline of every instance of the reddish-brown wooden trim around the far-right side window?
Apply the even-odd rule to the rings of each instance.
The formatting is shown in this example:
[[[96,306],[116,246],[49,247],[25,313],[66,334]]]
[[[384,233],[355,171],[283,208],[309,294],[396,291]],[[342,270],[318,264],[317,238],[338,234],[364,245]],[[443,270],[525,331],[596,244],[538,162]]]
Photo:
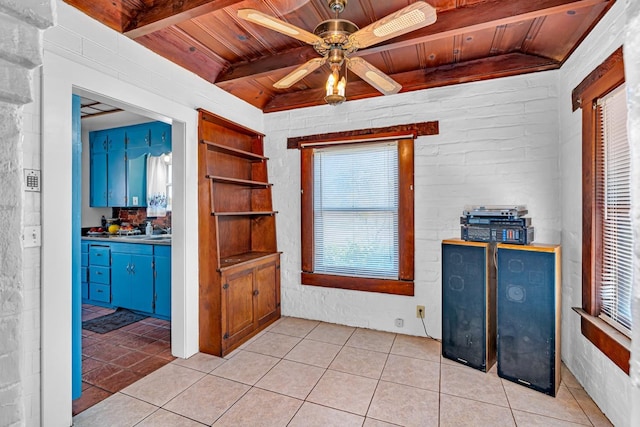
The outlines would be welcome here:
[[[622,48],[616,50],[578,85],[572,94],[575,107],[582,108],[582,308],[581,332],[616,366],[629,373],[631,340],[601,320],[601,302],[597,289],[601,245],[598,242],[601,221],[596,198],[596,149],[600,144],[594,103],[624,83]]]

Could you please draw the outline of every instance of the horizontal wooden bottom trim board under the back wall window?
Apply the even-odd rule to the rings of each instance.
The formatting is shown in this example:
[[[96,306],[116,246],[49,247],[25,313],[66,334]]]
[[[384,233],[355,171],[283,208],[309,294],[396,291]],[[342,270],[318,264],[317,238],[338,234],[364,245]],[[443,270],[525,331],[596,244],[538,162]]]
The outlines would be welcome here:
[[[379,292],[405,296],[414,295],[413,281],[405,280],[302,273],[302,284],[327,288],[350,289],[353,291]]]

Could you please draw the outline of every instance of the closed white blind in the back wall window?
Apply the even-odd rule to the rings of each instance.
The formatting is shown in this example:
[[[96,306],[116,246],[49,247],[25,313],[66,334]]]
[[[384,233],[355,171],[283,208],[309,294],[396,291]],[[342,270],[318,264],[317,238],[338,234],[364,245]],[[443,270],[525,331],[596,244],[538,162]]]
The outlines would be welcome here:
[[[314,272],[398,278],[396,142],[314,150]]]

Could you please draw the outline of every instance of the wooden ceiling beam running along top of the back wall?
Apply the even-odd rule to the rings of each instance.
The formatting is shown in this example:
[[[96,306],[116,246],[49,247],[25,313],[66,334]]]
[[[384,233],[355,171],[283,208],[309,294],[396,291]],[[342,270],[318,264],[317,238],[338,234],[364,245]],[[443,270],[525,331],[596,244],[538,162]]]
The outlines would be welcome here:
[[[524,73],[553,70],[560,62],[549,58],[523,53],[509,53],[457,64],[443,65],[427,70],[415,70],[394,74],[391,77],[402,85],[401,92],[410,92],[440,86],[489,80]],[[324,88],[283,93],[264,106],[265,113],[293,110],[325,104]],[[382,96],[364,81],[352,81],[347,85],[347,101]],[[395,96],[395,95],[390,95]]]

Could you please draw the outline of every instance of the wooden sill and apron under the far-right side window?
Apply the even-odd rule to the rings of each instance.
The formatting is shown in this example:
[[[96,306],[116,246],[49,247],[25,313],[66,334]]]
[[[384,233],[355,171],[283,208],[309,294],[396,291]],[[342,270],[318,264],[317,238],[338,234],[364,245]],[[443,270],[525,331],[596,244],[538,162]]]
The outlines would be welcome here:
[[[604,320],[591,316],[582,308],[573,307],[580,315],[582,335],[629,375],[631,340]]]

